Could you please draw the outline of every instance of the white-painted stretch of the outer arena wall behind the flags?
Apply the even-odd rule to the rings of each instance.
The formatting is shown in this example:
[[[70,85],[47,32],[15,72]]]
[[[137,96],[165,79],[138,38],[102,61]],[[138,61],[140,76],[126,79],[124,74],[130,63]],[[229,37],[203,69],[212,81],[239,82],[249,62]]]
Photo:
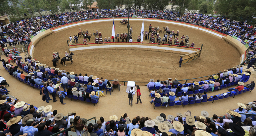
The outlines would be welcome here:
[[[120,21],[120,20],[123,20],[123,19],[115,19],[115,21]],[[130,19],[131,21],[142,21],[142,19]],[[54,31],[59,31],[59,30],[62,30],[62,29],[65,29],[65,28],[68,28],[68,27],[72,27],[72,26],[77,26],[77,25],[81,25],[81,24],[88,24],[88,23],[98,23],[98,22],[102,22],[102,21],[113,21],[113,19],[99,19],[99,20],[93,20],[93,21],[84,21],[84,22],[81,22],[81,23],[77,23],[77,24],[71,24],[71,25],[68,25],[68,26],[64,26],[64,27],[61,27],[61,28],[57,28],[57,29],[54,29]],[[168,23],[168,24],[176,24],[176,25],[180,25],[180,26],[184,26],[184,27],[191,27],[191,28],[195,28],[195,29],[198,29],[197,26],[191,26],[191,25],[188,25],[188,24],[183,24],[183,23],[178,23],[178,22],[172,22],[172,21],[163,21],[163,20],[157,20],[157,19],[144,19],[144,21],[152,21],[152,22],[159,22],[159,23]],[[220,35],[220,34],[217,34],[215,32],[212,32],[212,31],[209,31],[209,30],[206,30],[206,29],[203,29],[203,28],[199,28],[199,30],[201,31],[204,31],[204,32],[208,32],[210,34],[213,34],[213,35],[216,35],[220,38],[223,37],[223,35]]]

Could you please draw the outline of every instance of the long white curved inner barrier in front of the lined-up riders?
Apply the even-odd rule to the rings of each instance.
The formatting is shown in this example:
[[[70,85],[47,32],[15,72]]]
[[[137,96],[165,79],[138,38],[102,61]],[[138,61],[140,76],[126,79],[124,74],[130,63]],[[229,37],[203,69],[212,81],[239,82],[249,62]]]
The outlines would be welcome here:
[[[193,50],[185,50],[179,48],[169,48],[169,47],[158,47],[158,46],[144,46],[144,45],[102,45],[102,46],[89,46],[89,47],[78,47],[78,48],[69,48],[70,51],[78,51],[78,50],[88,50],[95,48],[152,48],[152,49],[161,49],[161,50],[171,50],[171,51],[180,51],[184,53],[193,53]]]

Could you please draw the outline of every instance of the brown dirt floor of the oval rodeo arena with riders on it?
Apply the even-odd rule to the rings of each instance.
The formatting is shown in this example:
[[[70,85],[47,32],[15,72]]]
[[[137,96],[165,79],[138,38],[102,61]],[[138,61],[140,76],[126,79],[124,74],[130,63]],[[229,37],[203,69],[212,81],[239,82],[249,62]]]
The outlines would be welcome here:
[[[72,65],[71,62],[66,62],[67,67],[60,64],[57,64],[57,67],[69,72],[82,73],[82,75],[87,73],[106,79],[118,78],[121,81],[148,81],[151,78],[163,81],[169,77],[188,79],[215,74],[239,63],[240,55],[238,51],[224,40],[202,31],[167,23],[144,21],[144,31],[148,31],[150,23],[153,27],[163,28],[168,26],[170,30],[175,32],[180,30],[178,38],[180,39],[182,35],[188,35],[190,43],[195,42],[195,47],[204,44],[201,57],[182,65],[180,68],[178,67],[178,61],[181,54],[139,50],[97,50],[75,53]],[[68,50],[67,40],[69,36],[77,35],[79,28],[82,31],[88,29],[91,33],[98,30],[104,38],[111,37],[112,24],[111,21],[87,24],[50,34],[37,43],[34,58],[51,67],[53,66],[53,51],[59,52],[61,58],[64,57],[64,51]],[[136,41],[142,22],[131,21],[130,24],[133,28],[133,41]],[[119,34],[128,32],[126,25],[121,25],[119,21],[115,21],[115,28],[116,33],[119,32]],[[163,33],[160,36],[162,37]],[[83,43],[82,39],[79,38],[78,44]],[[92,36],[88,43],[94,43],[94,39],[95,37]],[[143,42],[148,42],[148,40]]]

